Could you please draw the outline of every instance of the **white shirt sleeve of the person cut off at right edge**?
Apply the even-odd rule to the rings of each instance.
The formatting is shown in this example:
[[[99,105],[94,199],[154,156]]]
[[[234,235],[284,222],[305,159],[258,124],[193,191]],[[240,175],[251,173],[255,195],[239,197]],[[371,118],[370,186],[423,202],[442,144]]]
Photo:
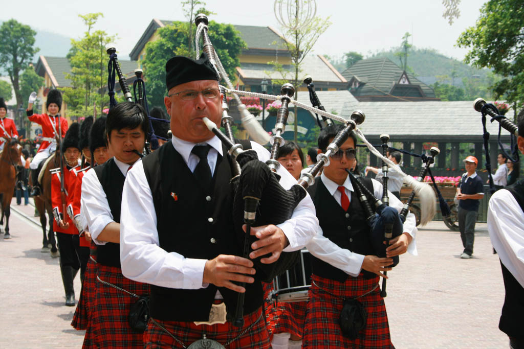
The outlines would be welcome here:
[[[524,287],[524,212],[508,190],[493,194],[487,221],[489,238],[500,261]]]

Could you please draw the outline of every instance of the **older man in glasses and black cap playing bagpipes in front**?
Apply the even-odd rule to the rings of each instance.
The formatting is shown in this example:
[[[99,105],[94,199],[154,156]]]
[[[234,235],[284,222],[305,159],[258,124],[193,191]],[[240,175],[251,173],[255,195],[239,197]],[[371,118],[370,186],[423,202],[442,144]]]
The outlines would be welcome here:
[[[235,240],[230,159],[202,121],[221,119],[225,97],[218,80],[205,54],[167,62],[164,103],[172,138],[134,166],[124,184],[122,272],[152,285],[146,348],[187,347],[197,340],[228,348],[270,346],[260,280],[253,262],[239,257],[242,246]],[[260,161],[269,160],[266,149],[249,144]],[[278,174],[284,188],[296,183],[285,168]],[[155,182],[160,186],[152,189]],[[252,228],[258,240],[249,257],[270,253],[261,261],[273,263],[282,251],[299,250],[317,231],[306,196],[284,223]],[[238,292],[245,292],[244,325],[235,328]]]

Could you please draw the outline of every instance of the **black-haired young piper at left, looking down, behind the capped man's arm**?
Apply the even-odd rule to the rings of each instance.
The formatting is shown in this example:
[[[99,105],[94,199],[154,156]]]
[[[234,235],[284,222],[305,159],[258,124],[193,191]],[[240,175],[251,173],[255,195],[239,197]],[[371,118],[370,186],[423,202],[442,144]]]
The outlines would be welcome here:
[[[98,268],[84,346],[92,343],[96,347],[144,347],[143,333],[130,327],[128,317],[137,297],[149,295],[149,285],[122,274],[119,243],[122,188],[128,171],[140,163],[148,123],[144,108],[138,104],[125,102],[113,107],[105,123],[113,157],[86,172],[82,179],[82,212],[97,245]]]

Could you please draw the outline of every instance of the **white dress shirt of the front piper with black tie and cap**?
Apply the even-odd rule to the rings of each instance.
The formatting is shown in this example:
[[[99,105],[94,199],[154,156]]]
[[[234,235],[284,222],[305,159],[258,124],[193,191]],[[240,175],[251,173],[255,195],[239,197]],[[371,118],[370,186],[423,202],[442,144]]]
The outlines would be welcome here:
[[[215,136],[206,142],[211,145],[208,162],[214,173],[217,155],[222,156],[222,143]],[[198,164],[198,156],[191,153],[194,143],[171,138],[174,149],[182,156],[191,171]],[[251,142],[252,149],[260,161],[269,160],[269,152],[261,145]],[[277,173],[280,184],[289,189],[297,181],[282,166]],[[188,217],[188,219],[190,219]],[[169,288],[198,289],[202,284],[204,265],[207,260],[185,258],[176,252],[167,252],[160,247],[157,217],[151,189],[140,162],[129,171],[122,195],[120,226],[120,259],[125,277],[138,282]],[[299,202],[292,217],[278,224],[289,241],[284,251],[300,250],[313,235],[319,232],[319,222],[309,194]],[[176,230],[176,223],[173,224]]]

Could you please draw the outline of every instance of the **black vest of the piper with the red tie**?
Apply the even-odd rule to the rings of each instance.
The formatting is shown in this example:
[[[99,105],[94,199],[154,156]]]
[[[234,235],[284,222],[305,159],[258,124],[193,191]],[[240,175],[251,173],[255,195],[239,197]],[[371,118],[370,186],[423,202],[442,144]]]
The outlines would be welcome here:
[[[362,178],[362,183],[373,193],[371,179]],[[324,237],[330,239],[343,249],[363,255],[375,254],[370,241],[370,228],[366,222],[366,214],[355,192],[351,193],[350,207],[347,212],[340,206],[325,187],[320,177],[308,188],[315,205],[316,217],[319,219]],[[331,264],[311,256],[313,274],[345,282],[350,275],[335,268]],[[376,274],[362,270],[365,278],[373,278]]]

